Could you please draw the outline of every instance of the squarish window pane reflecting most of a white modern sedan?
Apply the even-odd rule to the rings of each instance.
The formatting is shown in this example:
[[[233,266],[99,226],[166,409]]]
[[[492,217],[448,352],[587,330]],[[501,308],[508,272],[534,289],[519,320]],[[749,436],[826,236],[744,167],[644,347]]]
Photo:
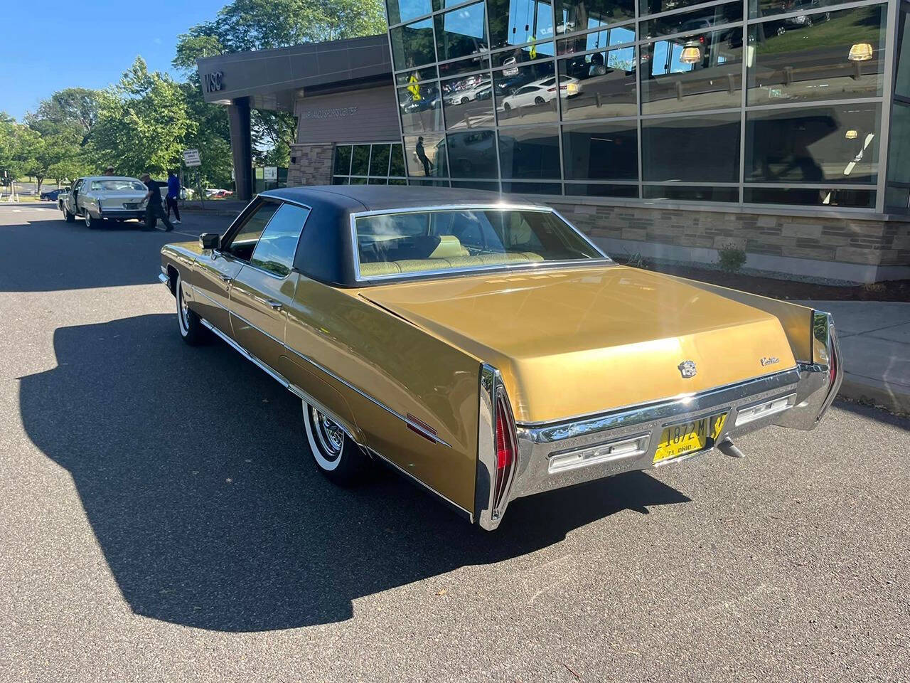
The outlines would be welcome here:
[[[501,125],[555,121],[558,91],[551,61],[493,72],[496,116]]]

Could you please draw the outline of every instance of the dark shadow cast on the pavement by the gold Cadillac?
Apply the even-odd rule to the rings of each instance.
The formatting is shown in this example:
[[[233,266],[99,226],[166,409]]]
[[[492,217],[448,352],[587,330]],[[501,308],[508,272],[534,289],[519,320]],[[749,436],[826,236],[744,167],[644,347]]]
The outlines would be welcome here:
[[[25,429],[72,474],[136,614],[257,631],[348,619],[351,600],[560,541],[606,515],[689,499],[647,474],[521,499],[468,525],[379,471],[359,489],[308,459],[300,404],[172,315],[58,329],[57,367],[21,378]]]

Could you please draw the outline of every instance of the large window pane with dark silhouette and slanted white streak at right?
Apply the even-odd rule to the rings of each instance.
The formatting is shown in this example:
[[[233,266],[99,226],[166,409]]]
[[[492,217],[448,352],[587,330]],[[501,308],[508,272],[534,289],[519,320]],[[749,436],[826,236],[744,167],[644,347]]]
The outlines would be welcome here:
[[[874,183],[877,104],[752,111],[746,116],[745,179],[769,183]]]

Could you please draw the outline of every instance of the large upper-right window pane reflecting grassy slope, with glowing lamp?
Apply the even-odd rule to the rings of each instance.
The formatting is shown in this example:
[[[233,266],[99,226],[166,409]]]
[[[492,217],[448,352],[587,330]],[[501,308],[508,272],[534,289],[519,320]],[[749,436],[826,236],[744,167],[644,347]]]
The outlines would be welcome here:
[[[751,25],[749,46],[750,105],[881,97],[885,5]]]

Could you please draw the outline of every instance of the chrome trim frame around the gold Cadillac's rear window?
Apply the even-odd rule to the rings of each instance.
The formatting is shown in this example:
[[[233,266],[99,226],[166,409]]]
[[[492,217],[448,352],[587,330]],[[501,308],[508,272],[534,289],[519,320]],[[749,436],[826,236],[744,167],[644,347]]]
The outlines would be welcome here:
[[[557,181],[559,182],[559,181]],[[418,270],[416,272],[399,272],[389,273],[387,275],[375,275],[373,277],[363,277],[360,275],[360,249],[357,240],[357,219],[368,218],[369,216],[389,216],[403,213],[442,213],[445,211],[470,211],[470,210],[494,210],[494,211],[534,211],[536,213],[549,213],[560,219],[572,232],[581,237],[585,244],[589,245],[596,253],[601,254],[601,259],[573,259],[573,260],[549,260],[549,261],[531,261],[529,263],[515,263],[491,266],[476,266],[467,268],[443,268],[438,270]],[[575,265],[615,265],[615,262],[603,252],[591,239],[580,229],[565,219],[562,214],[552,207],[541,206],[539,204],[526,204],[521,202],[501,202],[496,204],[442,204],[437,206],[426,207],[404,207],[398,209],[375,209],[369,211],[357,211],[350,214],[350,250],[354,258],[354,280],[357,282],[373,282],[376,280],[414,280],[433,275],[465,275],[490,270],[534,270],[539,268],[552,268]]]

